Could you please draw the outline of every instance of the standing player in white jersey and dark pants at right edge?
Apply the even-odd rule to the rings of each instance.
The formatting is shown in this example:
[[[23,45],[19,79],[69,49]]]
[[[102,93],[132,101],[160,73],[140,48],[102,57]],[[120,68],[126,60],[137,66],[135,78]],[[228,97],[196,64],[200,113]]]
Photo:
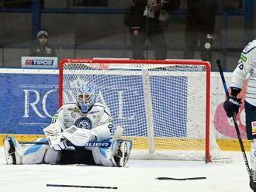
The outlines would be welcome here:
[[[250,183],[251,189],[256,191],[256,40],[251,41],[244,47],[238,60],[238,65],[234,70],[232,81],[230,84],[231,95],[224,102],[223,107],[230,118],[237,114],[241,105],[241,99],[237,98],[237,94],[242,89],[244,79],[248,77],[248,85],[244,100],[247,139],[251,142],[251,174],[254,184]]]

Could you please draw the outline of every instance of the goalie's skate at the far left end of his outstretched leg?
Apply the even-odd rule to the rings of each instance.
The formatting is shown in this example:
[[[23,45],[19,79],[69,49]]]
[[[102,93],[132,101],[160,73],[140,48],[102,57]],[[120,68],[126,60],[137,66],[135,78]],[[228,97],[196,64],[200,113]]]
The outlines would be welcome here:
[[[18,148],[19,143],[14,137],[6,136],[4,139],[5,147],[5,159],[8,165],[16,164],[16,148]]]

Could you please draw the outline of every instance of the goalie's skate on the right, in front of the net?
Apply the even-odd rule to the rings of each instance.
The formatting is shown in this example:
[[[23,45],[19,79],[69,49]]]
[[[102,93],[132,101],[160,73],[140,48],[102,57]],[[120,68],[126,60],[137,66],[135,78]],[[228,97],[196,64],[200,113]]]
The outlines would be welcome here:
[[[132,142],[129,140],[117,140],[113,142],[112,148],[112,151],[116,151],[116,154],[113,154],[113,161],[116,166],[125,166],[130,156]]]

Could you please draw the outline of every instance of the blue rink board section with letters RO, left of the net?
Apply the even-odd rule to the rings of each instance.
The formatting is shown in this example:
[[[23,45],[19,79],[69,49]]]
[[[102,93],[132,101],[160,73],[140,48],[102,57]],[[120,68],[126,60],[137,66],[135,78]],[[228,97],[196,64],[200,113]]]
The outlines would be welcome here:
[[[0,133],[43,134],[57,111],[55,70],[0,70]]]

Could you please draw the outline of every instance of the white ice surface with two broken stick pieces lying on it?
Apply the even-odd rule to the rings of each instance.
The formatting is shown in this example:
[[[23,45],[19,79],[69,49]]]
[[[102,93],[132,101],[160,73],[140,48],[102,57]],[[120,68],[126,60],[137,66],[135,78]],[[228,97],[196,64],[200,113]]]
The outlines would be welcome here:
[[[0,191],[248,192],[241,153],[234,163],[131,159],[124,168],[103,166],[6,165],[0,147]],[[155,180],[156,177],[207,177],[206,180]],[[117,190],[46,187],[47,183],[118,187]]]

